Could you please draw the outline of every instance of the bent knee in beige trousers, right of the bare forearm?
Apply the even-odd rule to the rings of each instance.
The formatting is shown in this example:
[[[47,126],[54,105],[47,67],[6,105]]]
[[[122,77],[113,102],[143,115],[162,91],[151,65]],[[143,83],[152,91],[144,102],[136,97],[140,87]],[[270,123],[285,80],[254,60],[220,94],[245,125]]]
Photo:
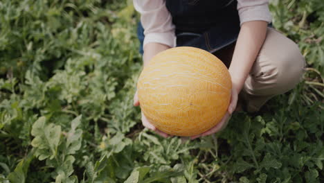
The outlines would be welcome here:
[[[270,29],[253,64],[249,78],[250,88],[260,87],[260,93],[263,93],[264,89],[271,94],[285,93],[300,82],[305,65],[305,58],[298,45],[276,30]]]

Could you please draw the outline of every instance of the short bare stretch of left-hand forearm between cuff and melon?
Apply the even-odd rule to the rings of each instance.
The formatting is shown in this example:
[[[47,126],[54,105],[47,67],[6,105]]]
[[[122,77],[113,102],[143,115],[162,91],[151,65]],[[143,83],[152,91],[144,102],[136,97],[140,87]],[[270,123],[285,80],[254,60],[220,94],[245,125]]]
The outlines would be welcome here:
[[[156,42],[150,42],[145,44],[144,46],[144,55],[143,55],[143,65],[144,67],[150,62],[150,60],[161,51],[165,51],[166,49],[170,49],[170,46],[165,44],[160,44]]]

